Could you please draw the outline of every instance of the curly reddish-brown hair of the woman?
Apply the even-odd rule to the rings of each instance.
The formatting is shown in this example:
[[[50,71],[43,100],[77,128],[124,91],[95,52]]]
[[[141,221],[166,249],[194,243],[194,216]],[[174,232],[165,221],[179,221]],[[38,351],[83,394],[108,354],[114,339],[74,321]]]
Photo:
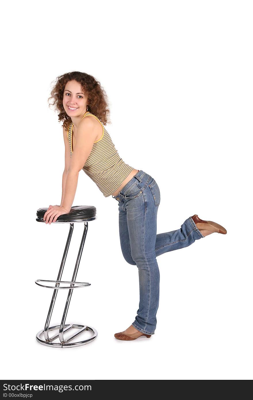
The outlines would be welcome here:
[[[96,115],[104,125],[108,122],[110,123],[108,118],[110,114],[108,97],[100,82],[98,82],[94,76],[86,74],[85,72],[72,71],[56,78],[51,96],[48,98],[48,102],[50,99],[53,99],[49,107],[51,105],[55,106],[56,111],[59,112],[58,120],[63,121],[62,127],[67,128],[71,121],[70,116],[68,116],[62,104],[64,88],[66,83],[70,80],[80,82],[86,96],[88,96],[88,111]]]

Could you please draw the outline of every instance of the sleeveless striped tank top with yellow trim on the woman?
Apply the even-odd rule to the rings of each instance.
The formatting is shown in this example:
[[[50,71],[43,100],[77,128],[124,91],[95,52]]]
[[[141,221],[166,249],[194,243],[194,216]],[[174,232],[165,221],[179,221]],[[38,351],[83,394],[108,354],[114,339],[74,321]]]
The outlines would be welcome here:
[[[118,189],[134,168],[120,158],[104,124],[89,111],[84,114],[83,118],[87,115],[93,115],[100,122],[103,133],[101,138],[94,142],[92,151],[82,169],[96,183],[104,196],[109,197]],[[73,122],[70,122],[68,126],[70,157],[73,152],[72,135]]]

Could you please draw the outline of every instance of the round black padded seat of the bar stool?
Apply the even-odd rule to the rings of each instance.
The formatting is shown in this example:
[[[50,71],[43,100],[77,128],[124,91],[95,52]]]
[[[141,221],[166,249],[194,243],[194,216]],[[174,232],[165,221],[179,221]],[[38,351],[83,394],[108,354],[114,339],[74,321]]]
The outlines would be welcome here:
[[[43,217],[48,207],[41,207],[37,210],[36,221],[44,222]],[[60,215],[56,222],[83,222],[96,217],[96,207],[94,206],[73,206],[68,214]]]

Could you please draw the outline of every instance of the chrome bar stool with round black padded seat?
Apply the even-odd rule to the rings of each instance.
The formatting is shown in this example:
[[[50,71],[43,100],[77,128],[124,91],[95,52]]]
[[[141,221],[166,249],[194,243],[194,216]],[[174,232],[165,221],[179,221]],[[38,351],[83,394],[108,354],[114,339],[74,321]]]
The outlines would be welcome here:
[[[39,208],[37,210],[36,221],[45,223],[45,221],[43,220],[43,217],[44,217],[44,214],[45,214],[45,212],[47,210],[48,210],[48,208]],[[92,342],[98,336],[98,332],[96,331],[96,329],[92,328],[91,326],[80,325],[80,324],[65,324],[68,308],[70,306],[70,300],[71,300],[73,289],[84,288],[86,286],[90,286],[90,283],[87,283],[87,282],[76,282],[76,275],[77,275],[77,272],[78,272],[78,267],[79,267],[79,264],[80,264],[82,251],[83,251],[83,248],[84,248],[84,242],[85,242],[86,234],[87,234],[87,231],[88,231],[88,221],[96,220],[96,218],[97,218],[96,217],[96,207],[93,207],[93,206],[73,206],[68,214],[60,215],[57,218],[56,222],[54,222],[52,224],[52,225],[54,225],[54,224],[70,224],[70,230],[69,230],[68,239],[67,239],[67,242],[66,242],[64,254],[63,254],[63,257],[62,257],[62,263],[61,263],[61,266],[60,266],[60,270],[58,272],[57,280],[37,279],[35,281],[35,283],[37,285],[39,285],[39,286],[42,286],[44,288],[53,288],[54,289],[54,293],[53,293],[53,296],[52,296],[51,304],[50,304],[50,307],[49,307],[49,310],[48,310],[48,316],[46,318],[46,324],[44,326],[44,329],[40,330],[36,335],[36,340],[40,344],[44,344],[45,346],[61,347],[61,348],[77,347],[77,346],[82,346],[84,344],[88,344],[88,343]],[[82,240],[81,240],[81,244],[80,244],[80,248],[79,248],[79,252],[78,252],[78,257],[77,257],[77,260],[76,260],[74,273],[73,273],[71,282],[69,282],[69,281],[61,281],[63,268],[64,268],[66,257],[67,257],[67,254],[68,254],[68,248],[70,246],[70,240],[71,240],[72,233],[73,233],[73,230],[74,230],[74,223],[76,223],[76,222],[84,222],[84,233],[83,233],[83,236],[82,236]],[[50,284],[51,284],[51,286],[50,286]],[[55,284],[55,285],[52,286],[53,284]],[[64,284],[64,286],[60,286],[61,284]],[[67,300],[66,300],[66,304],[65,304],[65,308],[64,308],[64,312],[63,312],[63,316],[62,316],[62,322],[61,322],[60,325],[49,327],[51,316],[52,316],[52,312],[53,312],[53,309],[54,309],[56,296],[57,296],[57,293],[58,293],[59,289],[69,289],[68,297],[67,297]],[[64,334],[66,332],[70,331],[71,329],[75,329],[75,328],[78,328],[78,331],[76,333],[74,333],[72,336],[68,337],[66,340],[64,340]],[[54,331],[54,330],[57,330],[57,332],[55,334],[53,334],[53,336],[49,337],[49,332]],[[92,331],[93,332],[92,337],[90,337],[90,338],[88,338],[86,340],[78,341],[78,342],[71,342],[74,338],[76,338],[76,336],[80,335],[85,330]],[[58,338],[59,338],[60,342],[54,342]]]

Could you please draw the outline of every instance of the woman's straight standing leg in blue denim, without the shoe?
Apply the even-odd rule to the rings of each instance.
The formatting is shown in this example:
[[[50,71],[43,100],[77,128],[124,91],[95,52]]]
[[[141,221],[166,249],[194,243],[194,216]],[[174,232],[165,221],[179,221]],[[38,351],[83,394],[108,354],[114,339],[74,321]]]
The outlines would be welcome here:
[[[139,274],[139,308],[132,325],[142,333],[153,335],[157,323],[160,273],[155,255],[158,207],[149,190],[147,186],[143,195],[127,201],[123,208],[126,210],[129,250]]]

